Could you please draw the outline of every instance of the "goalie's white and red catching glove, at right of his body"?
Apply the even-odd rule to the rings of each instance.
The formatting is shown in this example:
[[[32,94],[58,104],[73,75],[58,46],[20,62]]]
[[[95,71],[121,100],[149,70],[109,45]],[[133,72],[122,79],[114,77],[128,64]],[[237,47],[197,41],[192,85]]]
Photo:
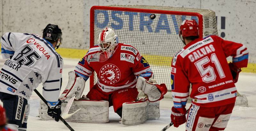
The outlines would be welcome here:
[[[138,77],[136,88],[148,95],[148,101],[150,102],[156,102],[163,99],[164,94],[167,93],[165,84],[158,85],[155,82],[149,82],[141,76]]]

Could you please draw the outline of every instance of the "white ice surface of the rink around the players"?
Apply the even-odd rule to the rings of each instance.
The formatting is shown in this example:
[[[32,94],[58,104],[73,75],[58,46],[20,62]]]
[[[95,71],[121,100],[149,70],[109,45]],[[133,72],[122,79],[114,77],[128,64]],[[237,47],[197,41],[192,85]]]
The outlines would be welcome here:
[[[0,57],[0,67],[3,66],[4,61]],[[75,65],[80,59],[63,59],[63,83],[61,92],[68,83],[68,72],[74,70]],[[45,65],[47,66],[47,65]],[[226,128],[227,131],[256,131],[256,74],[240,73],[239,80],[236,83],[237,90],[240,94],[245,94],[248,99],[248,107],[234,107],[231,118]],[[37,90],[42,93],[42,85],[37,87]],[[85,85],[84,94],[89,91],[89,81]],[[68,131],[68,128],[61,122],[42,121],[38,115],[40,98],[33,92],[30,104],[30,114],[28,117],[28,131]],[[159,120],[149,120],[143,124],[135,126],[124,126],[120,124],[119,116],[114,113],[113,107],[109,109],[108,123],[75,123],[68,122],[69,125],[76,131],[159,131],[168,125],[171,114],[171,107],[173,106],[172,99],[163,99],[160,101],[160,118]],[[187,108],[190,103],[187,103]],[[185,124],[179,128],[170,127],[169,131],[184,131]]]

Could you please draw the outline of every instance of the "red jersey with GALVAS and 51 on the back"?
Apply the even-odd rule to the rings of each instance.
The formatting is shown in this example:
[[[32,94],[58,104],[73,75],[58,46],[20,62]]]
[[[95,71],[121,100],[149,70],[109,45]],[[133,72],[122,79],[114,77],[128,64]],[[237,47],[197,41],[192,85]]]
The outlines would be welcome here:
[[[175,108],[186,105],[190,83],[192,103],[203,107],[217,107],[236,100],[227,57],[233,56],[236,67],[246,67],[248,50],[239,43],[218,36],[196,39],[172,58],[172,97]]]

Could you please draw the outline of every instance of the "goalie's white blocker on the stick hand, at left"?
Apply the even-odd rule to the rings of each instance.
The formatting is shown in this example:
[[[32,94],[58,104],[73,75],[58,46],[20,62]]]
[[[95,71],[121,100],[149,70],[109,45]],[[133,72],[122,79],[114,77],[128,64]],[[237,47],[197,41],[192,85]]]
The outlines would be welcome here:
[[[84,91],[85,81],[82,77],[76,77],[74,71],[68,72],[68,85],[60,95],[60,99],[73,97],[76,94],[76,100],[79,100]]]

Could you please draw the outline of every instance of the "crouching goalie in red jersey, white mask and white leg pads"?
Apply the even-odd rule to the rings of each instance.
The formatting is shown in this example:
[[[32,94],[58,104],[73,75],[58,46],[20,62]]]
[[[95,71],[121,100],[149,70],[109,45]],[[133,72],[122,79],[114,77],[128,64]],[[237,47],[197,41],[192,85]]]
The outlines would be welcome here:
[[[84,83],[93,71],[98,81],[81,97]],[[147,95],[145,99],[137,99],[138,89]],[[60,98],[69,100],[67,107],[77,112],[72,116],[66,113],[64,117],[70,116],[67,121],[108,122],[108,107],[113,106],[121,117],[120,123],[135,125],[160,117],[159,100],[166,92],[165,84],[156,83],[150,65],[139,51],[132,45],[118,43],[115,32],[105,28],[99,34],[98,45],[90,48],[75,70],[69,72],[68,85]],[[72,99],[76,99],[73,104]]]

